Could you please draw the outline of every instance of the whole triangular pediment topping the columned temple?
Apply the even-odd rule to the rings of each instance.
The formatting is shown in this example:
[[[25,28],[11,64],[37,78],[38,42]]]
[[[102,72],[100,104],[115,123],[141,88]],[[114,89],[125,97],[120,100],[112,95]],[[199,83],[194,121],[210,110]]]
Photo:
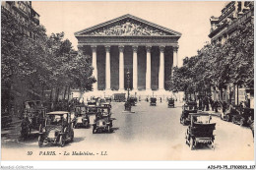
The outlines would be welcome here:
[[[75,33],[76,36],[180,36],[181,33],[137,18],[130,14],[86,28]]]

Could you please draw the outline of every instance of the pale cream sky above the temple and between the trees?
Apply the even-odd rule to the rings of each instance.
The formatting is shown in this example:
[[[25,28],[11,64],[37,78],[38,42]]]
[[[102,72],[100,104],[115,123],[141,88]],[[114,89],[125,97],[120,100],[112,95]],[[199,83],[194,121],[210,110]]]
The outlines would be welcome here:
[[[148,1],[148,2],[83,2],[83,1],[32,1],[40,15],[40,24],[47,34],[64,31],[75,49],[76,31],[90,28],[114,18],[131,14],[164,28],[181,32],[179,39],[179,66],[186,56],[197,54],[210,33],[210,17],[219,17],[224,1]]]

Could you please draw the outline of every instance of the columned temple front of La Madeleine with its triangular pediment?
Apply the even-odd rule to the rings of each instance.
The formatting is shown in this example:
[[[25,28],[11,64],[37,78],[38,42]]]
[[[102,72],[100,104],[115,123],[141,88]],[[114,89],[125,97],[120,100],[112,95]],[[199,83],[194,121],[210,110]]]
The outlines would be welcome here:
[[[181,33],[132,15],[75,33],[78,49],[92,56],[94,90],[165,91],[172,67],[178,65]]]

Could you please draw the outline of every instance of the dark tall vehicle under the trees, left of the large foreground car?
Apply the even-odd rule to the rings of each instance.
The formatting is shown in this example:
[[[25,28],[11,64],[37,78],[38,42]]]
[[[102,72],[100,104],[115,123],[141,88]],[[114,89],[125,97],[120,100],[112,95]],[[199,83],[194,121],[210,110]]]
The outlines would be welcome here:
[[[25,102],[24,119],[21,124],[21,136],[26,138],[32,133],[32,129],[38,131],[40,124],[45,119],[46,108],[40,100]]]

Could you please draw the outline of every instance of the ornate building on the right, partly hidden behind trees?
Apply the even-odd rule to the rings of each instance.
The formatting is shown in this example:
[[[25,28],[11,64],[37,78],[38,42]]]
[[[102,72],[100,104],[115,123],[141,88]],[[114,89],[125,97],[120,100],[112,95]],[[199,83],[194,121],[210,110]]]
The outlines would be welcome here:
[[[243,23],[254,23],[254,1],[230,1],[222,10],[220,17],[211,17],[211,30],[209,37],[212,44],[221,43],[231,37],[236,28]],[[213,89],[213,96],[217,100],[227,103],[239,104],[249,100],[249,105],[254,108],[254,90],[245,89],[243,86],[226,84],[223,89]]]

